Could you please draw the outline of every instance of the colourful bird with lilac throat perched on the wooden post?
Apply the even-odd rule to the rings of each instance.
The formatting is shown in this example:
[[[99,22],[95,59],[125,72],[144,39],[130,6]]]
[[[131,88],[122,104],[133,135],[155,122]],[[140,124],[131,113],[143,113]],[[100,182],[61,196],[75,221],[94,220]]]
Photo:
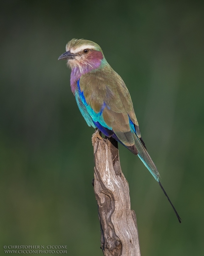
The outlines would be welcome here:
[[[101,47],[93,41],[73,38],[58,60],[67,60],[71,68],[71,91],[88,126],[98,128],[106,137],[113,137],[139,156],[159,183],[181,223],[142,140],[130,93],[122,78],[106,61]]]

